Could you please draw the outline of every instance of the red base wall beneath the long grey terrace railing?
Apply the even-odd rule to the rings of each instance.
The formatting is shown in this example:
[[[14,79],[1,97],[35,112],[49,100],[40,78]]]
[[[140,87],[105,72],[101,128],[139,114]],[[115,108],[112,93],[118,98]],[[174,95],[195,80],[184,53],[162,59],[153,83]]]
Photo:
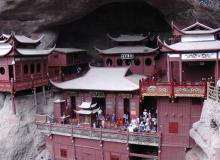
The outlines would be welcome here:
[[[48,150],[52,155],[53,160],[100,160],[104,157],[105,160],[111,160],[112,155],[119,160],[128,160],[127,146],[121,143],[103,142],[100,141],[76,138],[74,142],[71,137],[53,135],[53,139],[45,136]],[[62,155],[61,150],[66,151]]]

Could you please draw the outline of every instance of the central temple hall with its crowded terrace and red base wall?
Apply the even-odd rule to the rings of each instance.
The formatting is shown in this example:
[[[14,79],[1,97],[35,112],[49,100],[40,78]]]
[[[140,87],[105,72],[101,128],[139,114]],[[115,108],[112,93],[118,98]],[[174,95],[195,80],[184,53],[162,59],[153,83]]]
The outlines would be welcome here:
[[[51,81],[62,93],[62,99],[54,102],[51,130],[45,123],[47,116],[38,115],[36,120],[48,135],[45,139],[52,158],[158,159],[160,134],[129,133],[123,122],[124,115],[129,122],[140,115],[139,81],[143,78],[128,67],[90,66],[79,78]]]

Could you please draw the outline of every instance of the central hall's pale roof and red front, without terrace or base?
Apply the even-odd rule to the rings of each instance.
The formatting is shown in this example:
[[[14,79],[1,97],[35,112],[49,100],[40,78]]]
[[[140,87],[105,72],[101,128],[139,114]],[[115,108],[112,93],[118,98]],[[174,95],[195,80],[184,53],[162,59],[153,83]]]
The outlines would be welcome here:
[[[136,118],[139,116],[138,90],[142,78],[145,77],[132,74],[128,67],[90,67],[79,78],[51,83],[63,91],[66,107],[72,107],[69,109],[71,112],[85,101],[97,103],[105,116],[115,114],[117,118],[122,118],[126,113],[129,118]]]

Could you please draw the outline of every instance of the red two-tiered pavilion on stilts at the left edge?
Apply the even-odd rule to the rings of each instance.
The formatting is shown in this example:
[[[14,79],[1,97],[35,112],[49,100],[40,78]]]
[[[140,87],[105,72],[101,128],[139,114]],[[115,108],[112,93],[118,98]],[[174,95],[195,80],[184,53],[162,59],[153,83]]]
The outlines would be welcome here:
[[[42,37],[41,37],[42,38]],[[51,49],[37,49],[39,39],[31,39],[24,35],[1,35],[0,41],[0,91],[16,92],[33,89],[36,94],[37,87],[48,84],[47,56]],[[15,104],[12,102],[13,112],[16,113]]]

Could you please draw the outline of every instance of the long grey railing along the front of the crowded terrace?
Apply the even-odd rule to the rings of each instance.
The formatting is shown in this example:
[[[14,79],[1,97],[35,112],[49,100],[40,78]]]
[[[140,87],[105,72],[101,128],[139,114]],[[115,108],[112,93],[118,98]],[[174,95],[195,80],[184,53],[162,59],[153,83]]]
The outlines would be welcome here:
[[[160,133],[131,133],[120,129],[85,128],[71,124],[47,123],[45,122],[47,121],[46,117],[39,115],[37,117],[36,124],[38,130],[47,135],[55,134],[118,143],[160,146]]]

